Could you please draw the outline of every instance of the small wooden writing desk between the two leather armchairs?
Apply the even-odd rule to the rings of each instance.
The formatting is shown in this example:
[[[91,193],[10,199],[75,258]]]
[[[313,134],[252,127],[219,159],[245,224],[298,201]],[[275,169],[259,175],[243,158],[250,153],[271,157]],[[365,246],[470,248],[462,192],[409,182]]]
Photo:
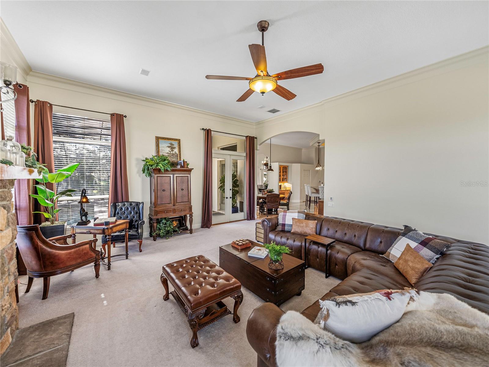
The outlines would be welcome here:
[[[109,226],[95,226],[93,224],[93,220],[89,222],[89,224],[85,226],[71,226],[71,243],[76,243],[76,234],[93,234],[93,238],[97,237],[97,234],[106,235],[107,236],[107,263],[104,262],[104,254],[106,253],[105,244],[102,244],[102,248],[100,249],[100,262],[104,265],[107,265],[107,270],[111,270],[111,236],[112,233],[118,232],[120,230],[125,230],[126,232],[126,259],[129,257],[129,249],[128,249],[128,229],[129,229],[129,221],[127,219],[116,220],[114,223]],[[120,255],[115,256],[123,256]]]

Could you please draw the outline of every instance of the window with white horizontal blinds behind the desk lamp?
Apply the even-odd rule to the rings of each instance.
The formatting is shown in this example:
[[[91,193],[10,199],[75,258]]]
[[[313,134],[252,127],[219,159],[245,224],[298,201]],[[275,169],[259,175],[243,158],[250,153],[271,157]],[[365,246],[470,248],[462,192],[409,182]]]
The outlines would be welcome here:
[[[89,218],[107,217],[111,173],[111,122],[53,112],[54,166],[59,169],[79,162],[76,171],[58,184],[57,191],[75,189],[73,197],[58,201],[60,221],[80,220],[80,193],[87,190]]]

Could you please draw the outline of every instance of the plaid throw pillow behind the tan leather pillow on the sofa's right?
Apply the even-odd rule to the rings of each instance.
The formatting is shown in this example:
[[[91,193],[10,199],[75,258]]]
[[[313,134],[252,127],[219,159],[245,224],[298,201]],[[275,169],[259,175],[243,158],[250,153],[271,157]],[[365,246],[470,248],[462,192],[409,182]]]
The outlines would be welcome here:
[[[404,226],[404,230],[392,244],[389,250],[382,256],[392,262],[396,262],[401,253],[409,245],[414,251],[418,252],[426,261],[433,264],[444,251],[450,248],[448,242],[437,240],[436,238],[425,235],[424,233]]]

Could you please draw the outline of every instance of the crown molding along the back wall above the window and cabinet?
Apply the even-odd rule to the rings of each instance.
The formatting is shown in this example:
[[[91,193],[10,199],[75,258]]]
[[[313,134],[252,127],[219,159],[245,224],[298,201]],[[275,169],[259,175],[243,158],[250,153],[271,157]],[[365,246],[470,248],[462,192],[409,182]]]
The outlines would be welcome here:
[[[105,87],[96,86],[76,80],[66,79],[60,76],[44,74],[39,71],[31,71],[27,76],[29,83],[37,83],[41,85],[47,85],[54,88],[60,88],[67,91],[75,91],[85,93],[89,95],[99,95],[105,98],[111,98],[123,102],[129,102],[139,104],[147,107],[159,108],[171,112],[183,113],[186,115],[193,115],[196,117],[205,116],[205,118],[215,120],[218,122],[226,122],[232,125],[255,128],[255,123],[251,121],[241,120],[235,117],[229,117],[224,115],[215,114],[212,112],[199,110],[192,107],[178,105],[175,103],[165,102],[154,98],[143,97],[136,94],[117,91]],[[33,96],[36,97],[36,96]]]

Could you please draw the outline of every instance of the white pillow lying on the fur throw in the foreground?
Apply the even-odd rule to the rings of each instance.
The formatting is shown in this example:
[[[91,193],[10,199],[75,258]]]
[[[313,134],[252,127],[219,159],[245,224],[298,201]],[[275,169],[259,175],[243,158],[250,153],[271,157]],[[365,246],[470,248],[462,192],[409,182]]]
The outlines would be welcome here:
[[[321,311],[314,320],[324,330],[353,343],[363,343],[402,317],[415,289],[383,289],[371,293],[319,300]]]

